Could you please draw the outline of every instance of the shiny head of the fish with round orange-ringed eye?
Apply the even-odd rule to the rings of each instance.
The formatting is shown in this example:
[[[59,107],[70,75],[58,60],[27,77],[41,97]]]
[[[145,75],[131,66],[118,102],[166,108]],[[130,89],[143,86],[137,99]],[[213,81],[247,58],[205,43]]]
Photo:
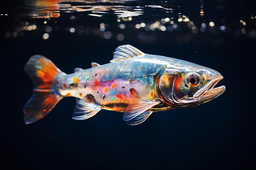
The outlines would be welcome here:
[[[225,86],[215,87],[222,78],[217,71],[199,65],[179,71],[166,69],[159,78],[160,96],[174,107],[197,106],[225,91]]]

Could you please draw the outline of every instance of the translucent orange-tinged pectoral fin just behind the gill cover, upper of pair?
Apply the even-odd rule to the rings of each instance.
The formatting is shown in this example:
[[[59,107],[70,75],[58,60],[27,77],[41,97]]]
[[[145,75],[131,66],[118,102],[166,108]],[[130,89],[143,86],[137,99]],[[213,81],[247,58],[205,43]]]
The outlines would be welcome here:
[[[129,105],[126,108],[126,111],[124,112],[124,121],[130,121],[135,117],[141,115],[142,113],[145,113],[148,109],[152,108],[153,106],[161,104],[162,102],[163,101],[159,98],[156,98],[154,100],[148,100],[135,95],[130,100]],[[141,123],[142,122],[143,121],[141,121]]]

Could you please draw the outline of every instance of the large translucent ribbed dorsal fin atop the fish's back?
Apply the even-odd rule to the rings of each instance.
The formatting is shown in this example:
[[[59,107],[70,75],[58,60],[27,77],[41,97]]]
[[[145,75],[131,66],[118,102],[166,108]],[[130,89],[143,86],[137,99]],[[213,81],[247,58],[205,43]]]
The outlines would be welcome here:
[[[134,46],[131,45],[122,45],[117,47],[114,52],[114,57],[110,62],[116,62],[119,60],[125,60],[131,57],[145,55],[139,49],[136,49]]]

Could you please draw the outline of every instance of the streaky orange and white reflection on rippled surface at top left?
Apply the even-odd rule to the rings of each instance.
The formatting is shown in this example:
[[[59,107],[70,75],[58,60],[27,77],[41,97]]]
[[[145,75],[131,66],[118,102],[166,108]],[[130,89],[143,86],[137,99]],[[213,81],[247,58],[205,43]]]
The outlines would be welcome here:
[[[130,3],[132,2],[132,3]],[[118,17],[139,16],[144,8],[162,9],[172,12],[172,9],[159,5],[138,6],[133,0],[26,0],[22,15],[31,18],[58,18],[61,13],[87,12],[87,15],[101,17],[115,14]],[[124,4],[124,5],[120,5]],[[126,5],[127,4],[127,5]],[[142,3],[144,4],[144,3]]]

